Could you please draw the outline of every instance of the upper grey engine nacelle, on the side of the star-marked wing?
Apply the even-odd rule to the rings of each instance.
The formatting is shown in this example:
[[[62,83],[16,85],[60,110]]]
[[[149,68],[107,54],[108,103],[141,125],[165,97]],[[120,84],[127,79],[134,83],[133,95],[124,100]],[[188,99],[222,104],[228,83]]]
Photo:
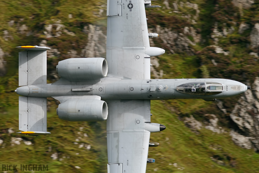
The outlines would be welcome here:
[[[69,58],[59,61],[56,67],[60,77],[69,81],[96,81],[106,77],[107,61],[104,58]]]

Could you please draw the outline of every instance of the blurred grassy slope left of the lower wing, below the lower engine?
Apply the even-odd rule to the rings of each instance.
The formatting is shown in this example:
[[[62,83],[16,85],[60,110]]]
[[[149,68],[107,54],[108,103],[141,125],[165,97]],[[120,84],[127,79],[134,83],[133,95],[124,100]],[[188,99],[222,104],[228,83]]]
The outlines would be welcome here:
[[[18,107],[6,110],[5,114],[0,114],[0,119],[0,138],[4,141],[0,148],[2,164],[48,164],[48,171],[42,172],[107,172],[106,122],[64,121],[53,108],[47,119],[47,130],[51,134],[34,137],[6,133],[8,128],[19,132]],[[12,146],[12,137],[22,137],[32,145],[20,141],[19,145]],[[86,148],[89,145],[90,150]],[[56,160],[51,158],[54,153],[58,154]]]

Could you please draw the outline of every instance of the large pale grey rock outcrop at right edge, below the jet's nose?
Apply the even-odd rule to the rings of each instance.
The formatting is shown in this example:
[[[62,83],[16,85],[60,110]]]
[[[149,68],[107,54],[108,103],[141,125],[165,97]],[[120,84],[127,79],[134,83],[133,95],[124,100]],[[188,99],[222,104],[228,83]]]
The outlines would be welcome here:
[[[231,132],[232,140],[243,148],[259,151],[259,78],[236,103],[230,117],[239,127],[240,134]],[[245,144],[246,143],[246,144]]]

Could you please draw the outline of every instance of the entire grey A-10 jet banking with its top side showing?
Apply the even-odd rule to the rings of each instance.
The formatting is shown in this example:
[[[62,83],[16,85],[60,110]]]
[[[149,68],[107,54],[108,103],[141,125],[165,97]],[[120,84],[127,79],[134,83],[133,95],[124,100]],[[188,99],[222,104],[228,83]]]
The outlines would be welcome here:
[[[150,132],[166,127],[150,121],[150,100],[215,99],[242,94],[250,87],[228,79],[150,79],[150,57],[165,51],[150,47],[145,8],[151,1],[107,1],[104,58],[60,61],[60,80],[47,84],[48,47],[20,46],[19,130],[47,135],[47,98],[60,101],[57,115],[67,121],[107,121],[108,173],[144,173]],[[106,61],[107,60],[107,61]],[[109,67],[109,68],[108,68]]]

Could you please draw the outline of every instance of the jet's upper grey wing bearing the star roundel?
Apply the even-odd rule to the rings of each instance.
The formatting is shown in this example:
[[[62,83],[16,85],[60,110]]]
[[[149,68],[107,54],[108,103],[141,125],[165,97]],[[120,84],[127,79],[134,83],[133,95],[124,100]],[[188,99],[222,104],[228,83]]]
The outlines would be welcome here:
[[[143,0],[107,0],[108,77],[150,79],[150,56]]]

